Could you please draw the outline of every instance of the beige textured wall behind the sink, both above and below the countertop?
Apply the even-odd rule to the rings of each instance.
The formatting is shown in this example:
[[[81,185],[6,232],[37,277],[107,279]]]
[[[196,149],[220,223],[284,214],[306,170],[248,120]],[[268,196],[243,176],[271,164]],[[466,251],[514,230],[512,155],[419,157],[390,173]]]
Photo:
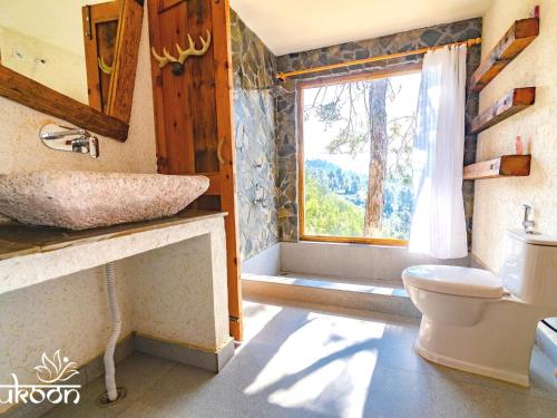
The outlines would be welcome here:
[[[0,174],[48,168],[155,173],[152,97],[145,12],[128,140],[121,144],[99,137],[98,159],[51,150],[40,143],[38,130],[45,120],[53,118],[0,97]],[[130,262],[134,259],[119,262],[120,272],[125,271],[125,263]],[[78,364],[102,353],[110,332],[105,280],[104,269],[96,268],[0,294],[0,381],[10,382],[11,372],[17,373],[22,382],[36,381],[32,368],[38,364],[43,351],[52,354],[61,349],[65,356]],[[117,278],[124,321],[123,338],[134,327],[133,280],[126,274]],[[0,410],[7,407],[1,406]]]

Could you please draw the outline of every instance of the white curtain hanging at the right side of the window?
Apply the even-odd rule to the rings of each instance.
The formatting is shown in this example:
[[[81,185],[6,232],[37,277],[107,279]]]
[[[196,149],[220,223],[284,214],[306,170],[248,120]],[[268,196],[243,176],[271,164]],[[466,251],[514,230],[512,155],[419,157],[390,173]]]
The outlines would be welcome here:
[[[466,46],[453,46],[423,58],[409,249],[437,259],[468,254],[462,201],[466,54]]]

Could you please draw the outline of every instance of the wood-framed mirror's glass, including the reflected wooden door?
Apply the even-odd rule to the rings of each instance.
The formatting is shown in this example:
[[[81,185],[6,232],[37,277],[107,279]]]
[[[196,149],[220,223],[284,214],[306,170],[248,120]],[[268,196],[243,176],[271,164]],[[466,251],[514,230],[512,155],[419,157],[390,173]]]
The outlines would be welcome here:
[[[0,64],[108,113],[121,0],[0,0]]]

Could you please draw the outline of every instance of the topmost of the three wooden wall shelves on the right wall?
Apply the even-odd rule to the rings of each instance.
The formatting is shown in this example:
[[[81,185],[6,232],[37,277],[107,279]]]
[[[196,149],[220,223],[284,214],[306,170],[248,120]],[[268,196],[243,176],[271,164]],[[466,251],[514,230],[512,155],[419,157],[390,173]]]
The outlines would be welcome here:
[[[481,91],[538,33],[538,18],[517,20],[473,72],[469,89]]]

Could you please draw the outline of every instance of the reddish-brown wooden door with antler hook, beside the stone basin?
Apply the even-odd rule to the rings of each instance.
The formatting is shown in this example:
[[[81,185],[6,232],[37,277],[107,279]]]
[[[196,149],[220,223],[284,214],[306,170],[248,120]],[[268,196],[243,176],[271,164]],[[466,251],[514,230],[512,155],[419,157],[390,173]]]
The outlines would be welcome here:
[[[152,56],[157,164],[164,174],[203,174],[207,193],[194,207],[227,212],[225,217],[231,334],[242,340],[242,292],[237,243],[235,147],[232,119],[232,59],[228,0],[148,0],[150,46],[178,56],[189,35],[212,36],[207,52],[189,57],[184,71],[160,68]]]

